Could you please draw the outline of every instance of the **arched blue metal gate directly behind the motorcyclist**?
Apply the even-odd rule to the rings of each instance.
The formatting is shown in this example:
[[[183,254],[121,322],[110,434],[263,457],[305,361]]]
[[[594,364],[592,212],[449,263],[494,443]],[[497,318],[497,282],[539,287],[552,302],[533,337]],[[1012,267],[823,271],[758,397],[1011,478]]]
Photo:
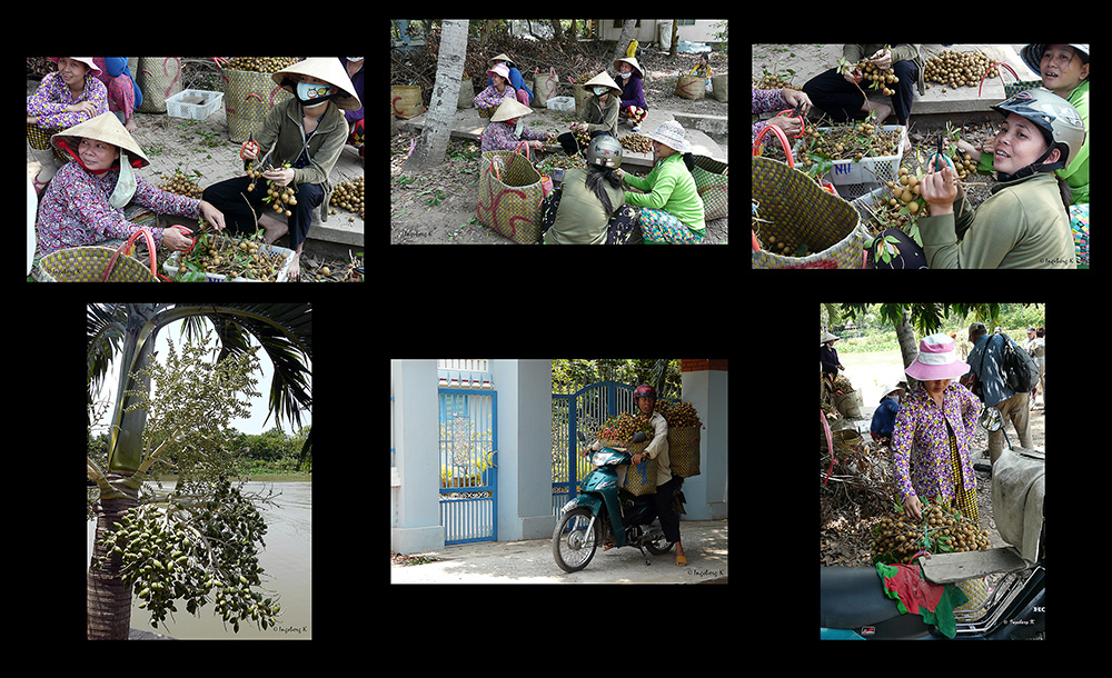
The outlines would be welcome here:
[[[618,412],[633,412],[634,387],[617,381],[599,381],[585,386],[574,393],[553,393],[553,515],[574,499],[579,491],[579,479],[590,471],[590,461],[579,457],[577,432],[583,431],[587,442],[607,418]]]

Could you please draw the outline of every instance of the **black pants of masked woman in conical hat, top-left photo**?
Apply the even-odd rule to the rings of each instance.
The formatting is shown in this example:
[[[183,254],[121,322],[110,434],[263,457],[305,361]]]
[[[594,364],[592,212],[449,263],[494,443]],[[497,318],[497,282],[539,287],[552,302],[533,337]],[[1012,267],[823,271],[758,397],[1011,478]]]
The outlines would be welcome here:
[[[250,183],[251,180],[247,177],[237,177],[214,183],[205,189],[201,200],[211,202],[216,209],[224,212],[224,219],[229,230],[254,233],[255,215],[258,217],[274,216],[275,211],[270,205],[262,202],[262,199],[267,197],[266,180],[256,181],[254,191],[247,190]],[[289,248],[296,251],[309,232],[312,210],[320,207],[320,202],[325,199],[325,191],[316,183],[299,183],[296,187],[295,196],[297,205],[286,206],[286,209],[290,211],[286,221],[289,225]],[[247,201],[251,203],[255,215],[251,213],[251,208],[247,207],[244,198],[247,198]]]

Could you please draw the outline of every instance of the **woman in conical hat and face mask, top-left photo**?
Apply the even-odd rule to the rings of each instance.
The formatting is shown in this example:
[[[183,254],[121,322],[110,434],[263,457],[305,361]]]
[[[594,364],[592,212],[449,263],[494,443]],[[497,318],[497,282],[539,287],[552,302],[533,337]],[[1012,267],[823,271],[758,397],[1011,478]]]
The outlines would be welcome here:
[[[289,247],[295,252],[288,272],[289,279],[296,280],[312,210],[319,208],[320,220],[328,221],[328,200],[332,193],[328,176],[348,139],[342,111],[358,110],[363,104],[347,70],[332,57],[298,61],[272,78],[294,98],[267,113],[262,131],[255,141],[245,142],[239,154],[245,160],[265,156],[265,163],[272,169],[262,173],[264,179],[277,188],[294,187],[295,199],[286,206],[275,200],[265,202],[269,198],[266,185],[258,181],[258,186],[248,190],[248,186],[256,183],[248,177],[215,183],[205,189],[203,198],[224,210],[231,230],[254,233],[257,218],[267,242],[288,233]],[[278,219],[279,215],[286,221]]]

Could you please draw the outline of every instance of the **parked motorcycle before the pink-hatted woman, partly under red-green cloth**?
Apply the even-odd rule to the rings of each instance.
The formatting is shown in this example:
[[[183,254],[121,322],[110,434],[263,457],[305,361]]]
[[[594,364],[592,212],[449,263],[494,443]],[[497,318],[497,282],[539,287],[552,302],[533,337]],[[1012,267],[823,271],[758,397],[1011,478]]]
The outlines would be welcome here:
[[[986,428],[1001,425],[987,417]],[[995,427],[995,428],[994,428]],[[987,551],[926,555],[916,560],[933,584],[1004,574],[987,601],[973,611],[955,612],[955,640],[1033,638],[1045,632],[1046,522],[1045,457],[1011,448],[992,465],[992,506],[1001,537],[1011,546]],[[823,640],[947,640],[921,615],[901,614],[884,592],[872,567],[824,567],[820,597]]]

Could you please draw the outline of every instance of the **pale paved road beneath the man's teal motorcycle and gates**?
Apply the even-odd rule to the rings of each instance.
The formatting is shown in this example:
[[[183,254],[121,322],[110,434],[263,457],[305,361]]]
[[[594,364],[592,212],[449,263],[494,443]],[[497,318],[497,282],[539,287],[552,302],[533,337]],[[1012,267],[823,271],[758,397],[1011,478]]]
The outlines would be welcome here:
[[[679,524],[687,566],[676,567],[675,551],[649,556],[635,548],[598,551],[586,569],[565,572],[553,560],[552,539],[486,541],[447,546],[425,554],[434,562],[391,566],[394,584],[725,584],[728,570],[726,520]],[[410,554],[413,555],[413,554]]]

